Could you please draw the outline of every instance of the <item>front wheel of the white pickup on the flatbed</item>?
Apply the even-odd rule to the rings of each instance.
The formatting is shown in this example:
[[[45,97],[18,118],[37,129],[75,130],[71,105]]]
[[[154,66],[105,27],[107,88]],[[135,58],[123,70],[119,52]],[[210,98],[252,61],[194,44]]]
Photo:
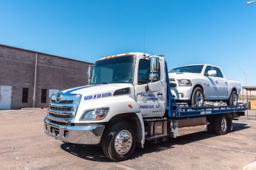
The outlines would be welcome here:
[[[202,107],[204,105],[204,91],[201,88],[196,87],[193,90],[191,100],[188,105],[193,107]]]

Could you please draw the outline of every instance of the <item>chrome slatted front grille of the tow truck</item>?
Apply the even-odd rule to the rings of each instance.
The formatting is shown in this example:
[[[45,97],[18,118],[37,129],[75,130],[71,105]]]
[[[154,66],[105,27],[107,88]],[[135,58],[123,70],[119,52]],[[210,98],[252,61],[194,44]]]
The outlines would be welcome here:
[[[68,126],[74,122],[81,95],[61,93],[61,101],[56,102],[56,94],[52,95],[47,112],[47,120],[57,125]]]

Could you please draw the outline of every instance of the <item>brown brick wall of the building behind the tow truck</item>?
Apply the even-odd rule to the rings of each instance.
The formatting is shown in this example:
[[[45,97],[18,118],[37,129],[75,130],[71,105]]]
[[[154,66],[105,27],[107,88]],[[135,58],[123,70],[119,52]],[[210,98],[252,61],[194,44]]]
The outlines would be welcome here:
[[[87,70],[92,63],[0,45],[0,86],[12,86],[11,109],[33,107],[36,53],[35,107],[48,107],[49,89],[61,90],[87,84]],[[29,89],[28,103],[22,103],[22,88]],[[42,89],[47,89],[46,103],[41,103]]]

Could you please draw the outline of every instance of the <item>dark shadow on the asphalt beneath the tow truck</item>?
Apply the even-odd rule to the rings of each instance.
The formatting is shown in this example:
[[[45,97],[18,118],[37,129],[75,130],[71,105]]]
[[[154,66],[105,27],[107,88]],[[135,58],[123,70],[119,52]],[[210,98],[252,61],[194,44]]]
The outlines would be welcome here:
[[[243,130],[246,128],[250,128],[246,126],[244,123],[233,123],[232,132],[236,132],[239,130]],[[232,133],[230,132],[230,133]],[[209,134],[207,132],[197,132],[194,134],[182,135],[176,139],[169,138],[168,141],[160,141],[159,143],[154,143],[152,141],[148,141],[145,143],[144,148],[136,148],[133,158],[141,157],[146,153],[158,152],[163,150],[170,150],[174,148],[174,145],[182,145],[193,143],[196,141],[201,141],[203,139],[208,139],[211,137],[215,137],[216,134]],[[61,144],[61,149],[71,153],[72,155],[76,155],[79,158],[83,158],[86,160],[92,160],[97,162],[111,162],[108,158],[104,156],[101,146],[95,145],[80,145],[80,144]]]

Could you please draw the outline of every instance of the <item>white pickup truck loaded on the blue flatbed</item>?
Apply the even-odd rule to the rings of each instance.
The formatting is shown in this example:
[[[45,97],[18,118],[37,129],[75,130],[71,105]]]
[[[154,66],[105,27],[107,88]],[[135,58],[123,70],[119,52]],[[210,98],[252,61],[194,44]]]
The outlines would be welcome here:
[[[205,100],[223,100],[228,105],[237,105],[241,84],[226,79],[218,66],[180,66],[173,68],[168,75],[171,91],[177,102],[188,102],[191,106],[201,107]]]

